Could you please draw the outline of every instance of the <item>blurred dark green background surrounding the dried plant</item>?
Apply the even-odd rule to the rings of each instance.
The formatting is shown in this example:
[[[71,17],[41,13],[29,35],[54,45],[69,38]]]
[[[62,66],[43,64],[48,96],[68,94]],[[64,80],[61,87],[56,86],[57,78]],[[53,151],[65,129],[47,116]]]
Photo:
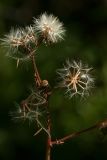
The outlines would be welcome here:
[[[56,69],[64,61],[81,59],[93,66],[95,88],[87,99],[65,99],[55,91],[50,99],[52,135],[62,137],[89,127],[107,117],[107,1],[106,0],[0,0],[0,38],[11,26],[26,26],[47,11],[58,16],[66,28],[65,40],[41,46],[37,65],[52,86]],[[14,102],[20,103],[33,86],[30,63],[20,64],[5,56],[0,47],[0,160],[44,160],[46,134],[34,137],[35,127],[14,123],[9,116]],[[100,131],[79,136],[52,148],[52,160],[107,159],[107,137]]]

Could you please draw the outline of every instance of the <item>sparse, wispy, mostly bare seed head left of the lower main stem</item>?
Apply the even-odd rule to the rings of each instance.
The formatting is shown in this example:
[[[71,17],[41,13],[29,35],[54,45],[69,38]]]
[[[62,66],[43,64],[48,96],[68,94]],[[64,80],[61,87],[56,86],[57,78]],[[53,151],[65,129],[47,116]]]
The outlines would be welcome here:
[[[23,100],[20,105],[16,104],[17,110],[11,112],[10,115],[15,121],[27,120],[29,123],[36,123],[38,130],[35,135],[41,130],[44,130],[50,135],[47,130],[47,108],[44,106],[46,100],[42,95],[43,93],[41,90],[38,90],[37,92],[32,91],[29,97],[26,100]]]

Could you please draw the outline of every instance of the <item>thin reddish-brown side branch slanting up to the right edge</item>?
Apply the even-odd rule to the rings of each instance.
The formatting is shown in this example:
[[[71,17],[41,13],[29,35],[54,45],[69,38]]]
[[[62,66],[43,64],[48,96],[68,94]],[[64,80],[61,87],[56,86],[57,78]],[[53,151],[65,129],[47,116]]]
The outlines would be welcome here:
[[[86,129],[83,129],[81,131],[77,131],[77,132],[73,132],[63,138],[60,138],[60,139],[57,139],[55,141],[51,141],[51,145],[58,145],[58,144],[62,144],[64,143],[65,141],[69,140],[69,139],[72,139],[72,138],[75,138],[83,133],[86,133],[88,131],[92,131],[94,129],[102,129],[102,128],[106,128],[107,127],[107,119],[105,119],[104,121],[102,122],[98,122],[97,124],[89,127],[89,128],[86,128]]]

